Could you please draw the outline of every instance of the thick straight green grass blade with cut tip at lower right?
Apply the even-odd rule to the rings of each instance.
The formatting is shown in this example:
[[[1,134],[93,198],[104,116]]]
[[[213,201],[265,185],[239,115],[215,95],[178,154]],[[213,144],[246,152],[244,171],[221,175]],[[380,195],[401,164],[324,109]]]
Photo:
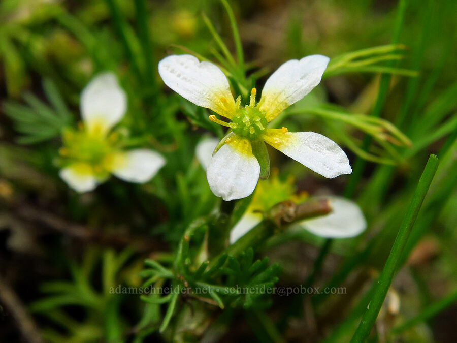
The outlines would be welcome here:
[[[352,337],[351,342],[364,342],[368,337],[376,318],[378,317],[379,310],[381,309],[390,284],[397,272],[397,267],[402,257],[402,253],[406,246],[412,226],[416,220],[423,199],[429,190],[433,177],[435,176],[438,164],[439,162],[436,155],[430,155],[429,161],[423,170],[412,201],[397,234],[397,238],[392,246],[389,257],[387,258],[384,269],[382,270],[378,283],[375,286],[373,297],[367,307],[367,310],[365,311],[360,325]]]

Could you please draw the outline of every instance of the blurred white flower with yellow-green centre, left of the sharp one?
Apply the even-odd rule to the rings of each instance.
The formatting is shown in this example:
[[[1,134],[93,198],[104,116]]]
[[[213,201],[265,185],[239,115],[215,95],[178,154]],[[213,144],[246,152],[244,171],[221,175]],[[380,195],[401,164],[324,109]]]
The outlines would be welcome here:
[[[102,73],[81,93],[83,126],[63,134],[59,150],[65,166],[60,177],[77,192],[88,192],[110,174],[144,183],[164,166],[165,159],[149,149],[123,151],[117,133],[110,133],[125,114],[127,99],[116,76]]]

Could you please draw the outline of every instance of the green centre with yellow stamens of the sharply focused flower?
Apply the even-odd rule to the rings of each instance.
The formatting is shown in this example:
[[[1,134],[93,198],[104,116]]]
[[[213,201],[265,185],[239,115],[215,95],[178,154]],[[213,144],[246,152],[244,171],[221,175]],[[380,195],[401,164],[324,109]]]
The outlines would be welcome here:
[[[236,102],[236,112],[232,117],[232,122],[226,123],[211,115],[210,119],[223,126],[230,127],[233,132],[243,138],[251,141],[258,140],[262,137],[267,128],[267,119],[265,114],[258,109],[258,104],[255,104],[255,88],[251,90],[249,105],[241,107],[241,97],[238,97]]]

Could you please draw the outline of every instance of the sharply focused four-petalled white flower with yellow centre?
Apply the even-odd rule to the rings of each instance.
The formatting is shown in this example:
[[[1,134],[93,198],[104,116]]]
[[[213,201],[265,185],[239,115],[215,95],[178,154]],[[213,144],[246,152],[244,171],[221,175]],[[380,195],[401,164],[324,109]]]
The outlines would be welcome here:
[[[259,103],[253,88],[249,105],[243,107],[241,97],[234,100],[227,78],[212,63],[191,55],[171,55],[159,62],[158,71],[166,85],[194,104],[231,120],[227,123],[210,116],[232,130],[207,168],[208,183],[216,196],[228,201],[253,192],[260,175],[253,142],[266,142],[328,178],[352,172],[344,151],[329,138],[314,132],[267,128],[268,122],[320,82],[328,63],[329,57],[322,55],[287,61],[267,80]]]

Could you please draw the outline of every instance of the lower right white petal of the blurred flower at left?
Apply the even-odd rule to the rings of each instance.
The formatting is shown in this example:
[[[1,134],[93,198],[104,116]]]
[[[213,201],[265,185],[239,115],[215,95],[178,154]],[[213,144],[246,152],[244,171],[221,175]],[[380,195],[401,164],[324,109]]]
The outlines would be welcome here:
[[[148,149],[136,149],[118,154],[112,172],[122,180],[144,183],[164,165],[165,159],[159,153]]]

